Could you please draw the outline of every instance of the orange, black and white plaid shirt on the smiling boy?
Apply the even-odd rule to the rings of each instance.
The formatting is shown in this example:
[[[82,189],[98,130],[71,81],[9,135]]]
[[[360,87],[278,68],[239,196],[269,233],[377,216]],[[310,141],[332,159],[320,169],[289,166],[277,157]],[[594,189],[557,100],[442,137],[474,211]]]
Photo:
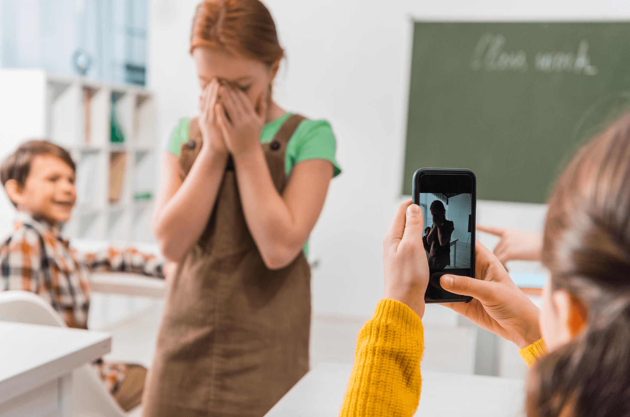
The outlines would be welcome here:
[[[57,227],[18,212],[13,232],[0,246],[0,290],[25,290],[46,299],[74,328],[87,328],[89,273],[109,270],[164,278],[164,261],[133,248],[79,254]]]

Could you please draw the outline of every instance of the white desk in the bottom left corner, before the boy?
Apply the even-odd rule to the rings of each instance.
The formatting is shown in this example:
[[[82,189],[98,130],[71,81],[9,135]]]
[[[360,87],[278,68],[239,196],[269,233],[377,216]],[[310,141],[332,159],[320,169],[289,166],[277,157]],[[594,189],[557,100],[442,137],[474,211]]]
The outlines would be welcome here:
[[[107,333],[0,321],[0,416],[71,416],[72,370],[111,345]]]

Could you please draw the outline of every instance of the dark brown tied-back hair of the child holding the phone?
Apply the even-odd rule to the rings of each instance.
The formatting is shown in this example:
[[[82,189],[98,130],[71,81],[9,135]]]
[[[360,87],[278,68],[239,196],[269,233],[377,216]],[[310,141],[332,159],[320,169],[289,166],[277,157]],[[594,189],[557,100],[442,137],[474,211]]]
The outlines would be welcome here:
[[[630,416],[630,113],[584,146],[549,198],[542,260],[552,290],[587,311],[538,361],[527,415]]]

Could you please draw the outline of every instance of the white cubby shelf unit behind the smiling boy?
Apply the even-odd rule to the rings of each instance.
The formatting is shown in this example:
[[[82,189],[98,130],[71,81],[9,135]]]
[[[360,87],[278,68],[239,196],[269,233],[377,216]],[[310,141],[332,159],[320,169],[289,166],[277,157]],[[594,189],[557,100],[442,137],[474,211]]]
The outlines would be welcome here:
[[[154,241],[155,108],[150,91],[37,69],[1,69],[0,91],[3,154],[27,139],[46,138],[68,149],[77,165],[77,203],[64,235]],[[123,142],[111,140],[112,106]],[[117,200],[110,195],[116,176],[112,160],[124,168],[117,170],[122,174]]]

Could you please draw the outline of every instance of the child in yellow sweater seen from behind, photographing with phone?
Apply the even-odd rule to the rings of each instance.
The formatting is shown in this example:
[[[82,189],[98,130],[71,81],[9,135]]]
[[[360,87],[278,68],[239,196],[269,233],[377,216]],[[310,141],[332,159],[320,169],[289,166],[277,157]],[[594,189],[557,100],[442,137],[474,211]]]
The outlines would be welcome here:
[[[386,234],[385,299],[359,334],[341,416],[411,417],[418,407],[428,283],[422,224],[410,200]],[[474,299],[445,306],[521,348],[534,366],[528,417],[629,417],[630,113],[583,147],[559,178],[542,261],[551,273],[542,311],[479,243],[476,279],[440,278],[446,290]]]

